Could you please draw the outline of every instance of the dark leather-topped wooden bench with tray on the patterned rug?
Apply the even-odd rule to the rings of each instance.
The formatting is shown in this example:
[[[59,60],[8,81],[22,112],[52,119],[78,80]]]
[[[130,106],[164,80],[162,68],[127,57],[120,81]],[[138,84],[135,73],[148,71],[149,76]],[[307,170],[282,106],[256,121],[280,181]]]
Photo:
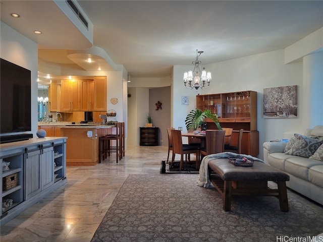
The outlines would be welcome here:
[[[253,195],[275,196],[279,199],[280,209],[288,212],[287,173],[259,161],[251,167],[236,166],[229,163],[228,158],[208,161],[208,169],[211,183],[222,195],[225,211],[231,210],[232,195]],[[276,181],[278,189],[268,188],[268,180]]]

